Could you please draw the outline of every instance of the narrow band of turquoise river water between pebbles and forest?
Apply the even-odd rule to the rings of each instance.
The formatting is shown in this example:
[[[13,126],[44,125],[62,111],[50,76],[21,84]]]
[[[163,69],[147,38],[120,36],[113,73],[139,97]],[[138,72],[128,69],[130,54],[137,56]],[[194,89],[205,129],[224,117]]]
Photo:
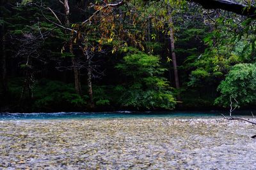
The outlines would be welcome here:
[[[60,113],[0,113],[0,120],[23,120],[23,119],[84,119],[84,118],[147,118],[147,117],[220,117],[223,111],[209,112],[132,112],[132,111],[116,111],[116,112],[60,112]],[[244,113],[250,113],[249,111]],[[236,113],[233,115],[244,115],[244,113]],[[226,111],[227,114],[227,111]],[[248,115],[246,114],[246,115]],[[251,114],[251,113],[250,113]],[[250,115],[249,114],[249,115]]]

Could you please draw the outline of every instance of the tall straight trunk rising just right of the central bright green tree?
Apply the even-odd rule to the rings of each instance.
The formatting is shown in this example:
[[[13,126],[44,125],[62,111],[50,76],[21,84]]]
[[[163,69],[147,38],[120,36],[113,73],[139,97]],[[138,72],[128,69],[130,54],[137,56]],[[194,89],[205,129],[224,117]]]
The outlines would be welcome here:
[[[169,14],[169,31],[170,31],[170,42],[171,42],[171,50],[172,50],[172,63],[173,63],[173,71],[174,71],[174,79],[175,79],[175,87],[176,89],[180,89],[179,83],[179,73],[177,68],[177,60],[175,55],[175,41],[174,41],[174,32],[172,27],[172,11],[170,7],[168,7],[168,14]],[[180,99],[180,95],[178,94],[178,99]]]

